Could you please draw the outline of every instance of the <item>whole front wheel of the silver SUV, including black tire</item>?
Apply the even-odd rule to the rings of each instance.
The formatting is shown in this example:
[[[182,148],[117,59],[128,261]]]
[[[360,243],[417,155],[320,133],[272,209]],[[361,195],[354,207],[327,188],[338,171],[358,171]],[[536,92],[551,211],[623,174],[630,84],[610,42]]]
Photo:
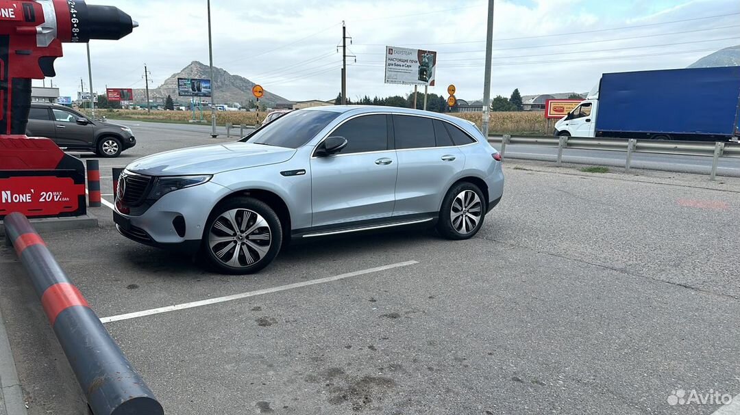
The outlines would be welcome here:
[[[282,243],[283,228],[275,211],[258,199],[238,197],[215,207],[201,249],[216,270],[251,274],[269,265]]]

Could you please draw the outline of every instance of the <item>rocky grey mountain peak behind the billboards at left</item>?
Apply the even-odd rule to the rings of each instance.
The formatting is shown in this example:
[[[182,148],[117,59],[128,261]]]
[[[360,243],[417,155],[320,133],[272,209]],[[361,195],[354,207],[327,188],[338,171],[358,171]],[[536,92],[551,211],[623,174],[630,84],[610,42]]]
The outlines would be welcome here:
[[[152,100],[154,103],[164,103],[167,95],[172,95],[175,103],[189,103],[190,97],[178,97],[178,78],[211,78],[210,67],[201,62],[192,61],[180,72],[172,74],[172,76],[164,80],[164,83],[160,86],[149,89],[149,100]],[[252,95],[252,86],[255,86],[255,83],[251,80],[239,75],[231,75],[229,72],[216,66],[213,67],[213,78],[216,97],[215,103],[240,103],[244,106],[249,100],[255,99],[254,95]],[[134,89],[134,100],[137,103],[144,103],[147,100],[144,89]],[[203,98],[203,100],[208,101],[209,98]],[[268,107],[275,106],[275,104],[279,103],[290,102],[290,100],[267,90],[265,90],[265,95],[260,98],[260,103],[265,103]]]

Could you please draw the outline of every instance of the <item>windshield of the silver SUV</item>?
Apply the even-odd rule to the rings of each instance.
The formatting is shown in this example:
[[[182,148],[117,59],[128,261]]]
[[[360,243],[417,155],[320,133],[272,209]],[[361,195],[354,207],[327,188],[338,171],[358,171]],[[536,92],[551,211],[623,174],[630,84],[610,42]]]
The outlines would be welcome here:
[[[309,142],[319,131],[329,125],[339,112],[294,111],[289,112],[241,141],[277,147],[298,148]]]

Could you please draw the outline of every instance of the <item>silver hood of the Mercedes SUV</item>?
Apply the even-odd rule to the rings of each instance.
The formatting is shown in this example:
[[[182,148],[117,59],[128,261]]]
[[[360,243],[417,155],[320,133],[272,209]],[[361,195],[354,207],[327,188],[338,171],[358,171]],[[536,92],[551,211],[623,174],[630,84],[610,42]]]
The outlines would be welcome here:
[[[136,160],[127,170],[148,176],[217,174],[289,160],[294,148],[250,143],[201,145],[165,151]]]

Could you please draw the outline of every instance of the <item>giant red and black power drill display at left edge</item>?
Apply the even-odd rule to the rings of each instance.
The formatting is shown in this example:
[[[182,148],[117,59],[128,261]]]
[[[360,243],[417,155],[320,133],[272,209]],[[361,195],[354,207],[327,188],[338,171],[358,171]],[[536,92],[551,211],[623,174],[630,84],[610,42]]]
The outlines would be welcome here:
[[[46,138],[24,134],[31,80],[55,76],[61,44],[117,40],[138,24],[84,0],[0,0],[0,219],[84,214],[84,164]]]

